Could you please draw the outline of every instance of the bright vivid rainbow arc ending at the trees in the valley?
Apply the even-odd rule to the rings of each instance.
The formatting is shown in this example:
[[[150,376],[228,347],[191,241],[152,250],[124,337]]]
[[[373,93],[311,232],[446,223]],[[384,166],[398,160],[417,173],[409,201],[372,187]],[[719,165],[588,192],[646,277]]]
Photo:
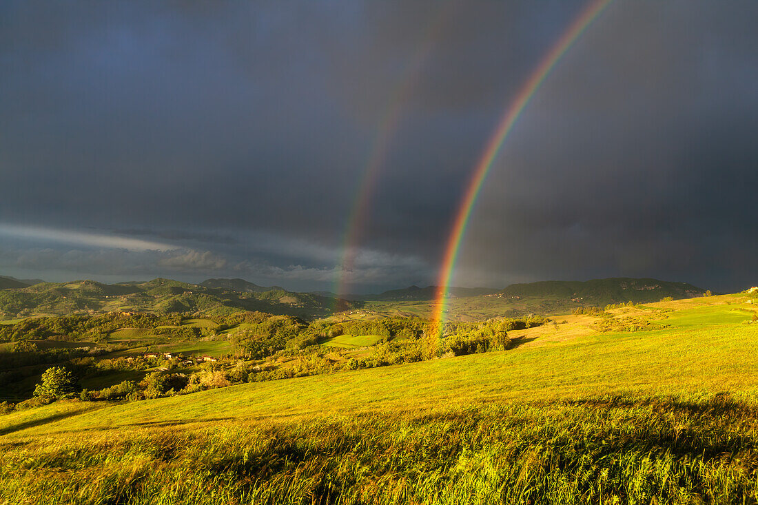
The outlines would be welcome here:
[[[543,83],[547,74],[550,74],[550,71],[555,67],[562,55],[568,51],[584,30],[586,30],[587,27],[600,16],[600,13],[603,12],[603,9],[605,9],[610,2],[612,2],[612,0],[595,0],[594,2],[590,2],[590,4],[584,8],[571,26],[565,30],[556,44],[553,45],[553,49],[550,49],[550,52],[545,55],[537,68],[534,69],[531,76],[521,89],[519,89],[515,99],[513,99],[508,108],[506,108],[503,118],[500,119],[500,123],[498,123],[495,132],[490,137],[490,140],[474,169],[474,174],[471,176],[471,182],[468,183],[458,213],[453,220],[453,228],[447,241],[440,274],[437,278],[437,293],[435,293],[432,328],[438,337],[441,337],[443,334],[447,306],[447,289],[450,280],[453,277],[453,269],[456,266],[458,251],[461,246],[463,235],[466,231],[468,219],[471,217],[471,210],[474,208],[477,201],[484,179],[487,178],[487,174],[489,173],[490,168],[492,168],[492,164],[497,158],[497,155],[500,153],[500,148],[503,147],[503,142],[506,140],[513,124],[518,119],[518,116],[522,113],[531,97],[534,96],[534,93],[540,88],[540,84]]]

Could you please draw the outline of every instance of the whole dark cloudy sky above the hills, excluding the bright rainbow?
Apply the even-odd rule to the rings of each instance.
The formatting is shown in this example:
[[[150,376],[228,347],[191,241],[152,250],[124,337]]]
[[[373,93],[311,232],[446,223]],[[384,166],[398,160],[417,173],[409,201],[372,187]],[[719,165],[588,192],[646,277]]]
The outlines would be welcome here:
[[[2,2],[0,274],[434,284],[487,140],[586,7]],[[758,283],[756,19],[612,2],[506,139],[453,284]]]

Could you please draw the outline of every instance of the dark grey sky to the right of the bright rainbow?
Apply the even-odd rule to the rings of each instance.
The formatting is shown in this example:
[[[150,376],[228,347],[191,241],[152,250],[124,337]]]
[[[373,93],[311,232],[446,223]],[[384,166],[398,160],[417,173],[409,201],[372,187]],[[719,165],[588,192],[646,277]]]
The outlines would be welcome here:
[[[758,9],[675,7],[612,5],[556,67],[493,168],[461,274],[755,283]]]

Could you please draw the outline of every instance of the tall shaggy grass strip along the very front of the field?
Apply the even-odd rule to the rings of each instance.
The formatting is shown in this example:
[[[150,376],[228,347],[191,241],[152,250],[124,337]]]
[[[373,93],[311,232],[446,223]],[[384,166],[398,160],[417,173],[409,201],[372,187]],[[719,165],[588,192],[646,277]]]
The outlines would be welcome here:
[[[758,403],[590,397],[5,439],[5,503],[756,503]]]

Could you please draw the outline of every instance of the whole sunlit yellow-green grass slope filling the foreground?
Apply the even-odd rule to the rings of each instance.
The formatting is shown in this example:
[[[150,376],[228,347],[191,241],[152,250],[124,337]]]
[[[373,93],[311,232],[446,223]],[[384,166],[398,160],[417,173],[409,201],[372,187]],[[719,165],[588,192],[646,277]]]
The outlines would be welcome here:
[[[0,416],[0,497],[756,503],[753,307],[637,312],[666,326],[597,333],[577,318],[500,353]]]

